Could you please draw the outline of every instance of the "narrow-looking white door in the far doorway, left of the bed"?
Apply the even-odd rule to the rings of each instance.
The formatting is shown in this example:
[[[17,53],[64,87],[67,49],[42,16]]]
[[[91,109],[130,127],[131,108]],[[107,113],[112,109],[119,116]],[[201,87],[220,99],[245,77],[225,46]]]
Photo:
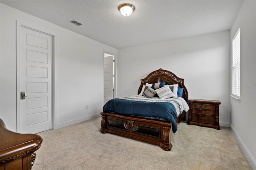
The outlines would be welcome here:
[[[114,56],[104,57],[104,104],[113,99],[114,91],[113,91],[113,81],[114,81]]]

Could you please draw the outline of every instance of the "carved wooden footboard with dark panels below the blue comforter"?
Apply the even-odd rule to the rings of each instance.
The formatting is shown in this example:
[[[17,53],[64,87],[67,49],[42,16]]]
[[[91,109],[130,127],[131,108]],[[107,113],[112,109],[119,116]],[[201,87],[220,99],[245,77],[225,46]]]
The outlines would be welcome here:
[[[112,133],[134,140],[160,146],[163,150],[171,150],[172,123],[156,121],[140,117],[118,115],[115,113],[100,113],[101,133]],[[185,113],[179,116],[180,122]],[[177,123],[179,123],[177,122]]]

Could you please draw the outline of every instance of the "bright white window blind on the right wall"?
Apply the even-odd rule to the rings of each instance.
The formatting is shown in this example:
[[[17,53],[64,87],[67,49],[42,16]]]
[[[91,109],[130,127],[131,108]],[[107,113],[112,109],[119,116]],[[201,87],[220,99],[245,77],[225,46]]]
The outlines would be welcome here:
[[[240,28],[232,40],[232,95],[240,98]]]

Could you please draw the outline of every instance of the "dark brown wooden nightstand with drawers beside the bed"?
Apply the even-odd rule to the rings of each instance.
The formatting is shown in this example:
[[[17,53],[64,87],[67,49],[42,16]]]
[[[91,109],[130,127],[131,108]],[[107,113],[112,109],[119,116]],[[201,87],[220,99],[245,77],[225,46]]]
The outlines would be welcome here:
[[[218,100],[188,99],[188,125],[220,129]]]

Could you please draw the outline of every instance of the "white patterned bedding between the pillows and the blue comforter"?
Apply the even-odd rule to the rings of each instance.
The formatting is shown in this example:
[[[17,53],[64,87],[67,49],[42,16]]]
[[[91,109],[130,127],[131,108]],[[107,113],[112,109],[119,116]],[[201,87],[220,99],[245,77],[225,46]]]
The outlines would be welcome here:
[[[122,97],[119,99],[124,100],[133,100],[133,101],[148,101],[148,102],[168,102],[172,103],[176,109],[177,117],[182,114],[183,111],[187,112],[189,110],[188,103],[182,98],[178,97],[177,99],[169,98],[169,99],[160,99],[158,97],[147,98],[141,95],[134,95],[131,97]]]

